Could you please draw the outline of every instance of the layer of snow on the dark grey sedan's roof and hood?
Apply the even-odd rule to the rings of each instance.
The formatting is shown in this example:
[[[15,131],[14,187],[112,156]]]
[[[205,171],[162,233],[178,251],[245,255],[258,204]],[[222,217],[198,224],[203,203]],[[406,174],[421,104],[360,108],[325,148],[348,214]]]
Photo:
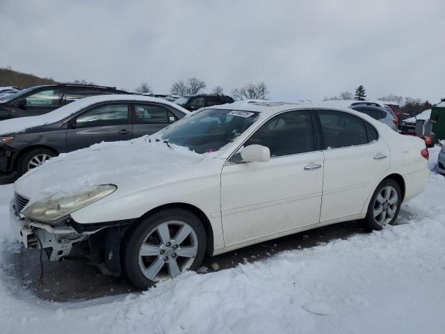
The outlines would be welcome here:
[[[72,114],[76,113],[77,111],[81,111],[81,109],[86,108],[87,106],[99,102],[108,102],[108,101],[159,102],[162,104],[167,104],[169,106],[172,106],[173,108],[182,111],[184,114],[190,113],[181,106],[178,106],[177,104],[169,102],[167,100],[159,99],[158,97],[148,97],[144,95],[129,95],[129,94],[96,95],[96,96],[85,97],[81,100],[71,102],[70,104],[61,106],[60,108],[54,111],[51,111],[49,113],[44,113],[43,115],[3,120],[0,122],[0,136],[3,136],[5,134],[15,134],[17,132],[24,132],[26,129],[29,129],[31,127],[40,127],[42,125],[60,122],[61,120],[65,120],[65,118],[72,116]]]

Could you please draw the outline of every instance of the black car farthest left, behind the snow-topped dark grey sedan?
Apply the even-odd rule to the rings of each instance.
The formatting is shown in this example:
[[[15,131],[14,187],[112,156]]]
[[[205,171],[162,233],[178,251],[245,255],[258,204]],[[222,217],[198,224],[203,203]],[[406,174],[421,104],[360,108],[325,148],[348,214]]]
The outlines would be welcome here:
[[[0,120],[38,116],[49,113],[83,97],[106,94],[129,94],[115,87],[56,84],[35,86],[0,98]]]

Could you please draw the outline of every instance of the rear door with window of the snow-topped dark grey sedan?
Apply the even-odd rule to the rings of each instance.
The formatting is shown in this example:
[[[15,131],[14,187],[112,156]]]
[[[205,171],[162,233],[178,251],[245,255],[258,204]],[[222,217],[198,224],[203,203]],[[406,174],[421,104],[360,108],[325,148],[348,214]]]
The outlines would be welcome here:
[[[177,120],[164,106],[133,104],[133,137],[154,134]]]

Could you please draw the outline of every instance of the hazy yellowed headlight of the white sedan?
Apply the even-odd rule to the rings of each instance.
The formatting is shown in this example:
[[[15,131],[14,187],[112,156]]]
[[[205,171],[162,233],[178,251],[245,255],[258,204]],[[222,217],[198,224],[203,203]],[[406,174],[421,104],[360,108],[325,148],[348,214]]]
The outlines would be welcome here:
[[[47,200],[33,202],[33,204],[24,210],[23,214],[26,218],[33,221],[51,223],[52,221],[58,221],[60,218],[67,216],[81,207],[86,207],[86,205],[90,205],[92,202],[96,202],[110,195],[116,189],[118,189],[118,187],[114,184],[103,184],[72,196],[61,198],[53,197]]]

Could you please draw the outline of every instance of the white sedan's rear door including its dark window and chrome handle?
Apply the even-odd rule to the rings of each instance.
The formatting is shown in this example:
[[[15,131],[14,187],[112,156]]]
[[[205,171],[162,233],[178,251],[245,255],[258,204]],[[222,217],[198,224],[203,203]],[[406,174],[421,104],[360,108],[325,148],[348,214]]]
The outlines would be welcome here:
[[[389,147],[375,127],[352,113],[316,110],[324,141],[320,221],[362,212],[390,165]]]

